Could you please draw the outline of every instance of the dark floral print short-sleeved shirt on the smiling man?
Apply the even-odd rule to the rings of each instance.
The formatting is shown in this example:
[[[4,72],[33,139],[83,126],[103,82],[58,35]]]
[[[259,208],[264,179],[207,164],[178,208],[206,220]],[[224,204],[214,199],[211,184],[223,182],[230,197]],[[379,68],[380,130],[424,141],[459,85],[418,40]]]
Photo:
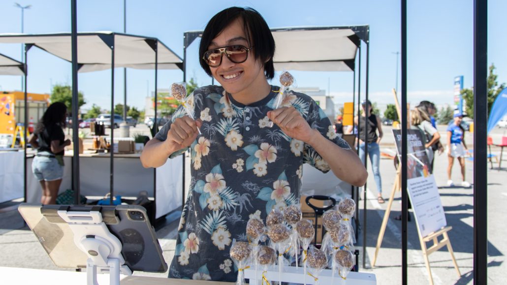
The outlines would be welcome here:
[[[298,204],[303,163],[322,172],[329,165],[309,145],[285,135],[267,117],[279,87],[245,106],[220,86],[196,89],[187,98],[194,118],[202,120],[190,146],[191,183],[179,222],[169,277],[236,281],[238,268],[229,250],[233,239],[246,241],[248,219],[266,219],[273,208]],[[309,96],[286,92],[281,106],[294,106],[308,124],[335,144],[350,149]],[[182,108],[172,117],[185,116]],[[167,138],[171,122],[155,136]],[[186,150],[171,155],[175,157]]]

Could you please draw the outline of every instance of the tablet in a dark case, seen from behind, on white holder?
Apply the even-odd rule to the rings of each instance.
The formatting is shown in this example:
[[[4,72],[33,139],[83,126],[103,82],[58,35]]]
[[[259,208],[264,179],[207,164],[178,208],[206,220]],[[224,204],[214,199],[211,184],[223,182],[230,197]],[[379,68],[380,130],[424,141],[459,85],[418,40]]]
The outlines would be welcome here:
[[[74,233],[58,210],[99,211],[107,229],[122,243],[121,254],[132,271],[165,272],[167,263],[146,209],[138,205],[41,205],[22,203],[21,216],[48,253],[63,268],[86,268],[87,255],[74,243]]]

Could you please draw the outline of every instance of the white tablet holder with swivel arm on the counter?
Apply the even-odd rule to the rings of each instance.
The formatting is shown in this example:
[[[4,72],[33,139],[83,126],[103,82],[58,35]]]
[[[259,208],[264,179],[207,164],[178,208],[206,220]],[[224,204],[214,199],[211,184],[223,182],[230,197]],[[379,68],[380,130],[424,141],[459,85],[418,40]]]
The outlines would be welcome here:
[[[102,221],[99,211],[58,210],[74,232],[74,242],[87,256],[87,285],[98,285],[97,273],[110,275],[110,285],[120,285],[120,272],[132,275],[121,254],[122,243]]]

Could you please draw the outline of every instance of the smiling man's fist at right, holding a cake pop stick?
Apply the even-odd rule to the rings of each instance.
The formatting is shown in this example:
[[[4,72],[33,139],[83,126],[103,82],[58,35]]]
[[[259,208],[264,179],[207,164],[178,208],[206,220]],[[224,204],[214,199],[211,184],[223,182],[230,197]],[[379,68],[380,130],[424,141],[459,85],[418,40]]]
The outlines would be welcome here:
[[[269,111],[268,118],[292,138],[308,143],[314,135],[313,129],[294,107],[281,107]]]

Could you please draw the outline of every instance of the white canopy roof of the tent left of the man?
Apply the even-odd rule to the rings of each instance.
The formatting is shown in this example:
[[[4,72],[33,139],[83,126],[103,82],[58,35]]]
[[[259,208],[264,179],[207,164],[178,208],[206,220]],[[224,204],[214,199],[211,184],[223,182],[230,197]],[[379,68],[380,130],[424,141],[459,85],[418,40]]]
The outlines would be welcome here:
[[[151,44],[156,38],[115,33],[111,31],[78,33],[79,72],[111,68],[114,39],[115,67],[155,69],[155,51]],[[0,34],[0,43],[24,43],[37,46],[57,57],[71,61],[71,34]],[[158,68],[180,69],[183,60],[158,41]]]

